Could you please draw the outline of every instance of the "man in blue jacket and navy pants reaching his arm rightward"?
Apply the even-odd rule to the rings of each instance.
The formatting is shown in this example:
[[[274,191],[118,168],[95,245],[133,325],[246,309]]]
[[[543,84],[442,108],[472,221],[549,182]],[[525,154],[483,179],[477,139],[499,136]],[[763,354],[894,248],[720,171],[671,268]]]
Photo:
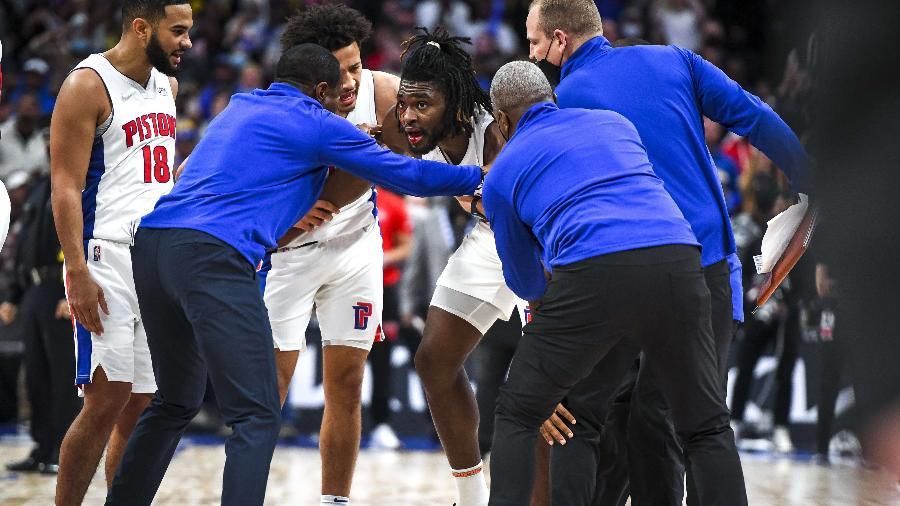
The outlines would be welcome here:
[[[340,65],[325,48],[285,51],[275,84],[232,97],[175,188],[143,218],[134,283],[159,390],[107,504],[150,504],[200,407],[207,374],[233,429],[222,504],[263,503],[280,404],[256,270],[316,201],[328,166],[423,196],[470,194],[481,183],[480,167],[396,155],[329,112],[339,82]]]

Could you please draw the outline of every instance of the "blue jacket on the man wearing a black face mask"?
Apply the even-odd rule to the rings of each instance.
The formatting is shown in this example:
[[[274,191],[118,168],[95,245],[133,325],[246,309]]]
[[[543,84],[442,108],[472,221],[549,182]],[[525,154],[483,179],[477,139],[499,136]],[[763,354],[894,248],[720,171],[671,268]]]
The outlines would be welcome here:
[[[556,94],[562,108],[608,109],[634,124],[653,170],[703,246],[703,265],[727,259],[732,266],[734,318],[743,320],[740,262],[703,116],[746,136],[794,189],[806,191],[808,160],[797,136],[765,102],[676,46],[613,48],[595,37],[563,65]]]

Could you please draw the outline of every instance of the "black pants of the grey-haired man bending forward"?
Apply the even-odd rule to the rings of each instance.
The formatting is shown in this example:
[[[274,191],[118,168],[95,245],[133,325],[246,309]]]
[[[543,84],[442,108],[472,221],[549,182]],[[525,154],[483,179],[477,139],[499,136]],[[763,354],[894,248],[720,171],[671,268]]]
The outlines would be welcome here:
[[[623,340],[644,350],[672,408],[699,503],[747,503],[699,252],[664,246],[554,269],[501,388],[490,504],[527,504],[539,425]]]

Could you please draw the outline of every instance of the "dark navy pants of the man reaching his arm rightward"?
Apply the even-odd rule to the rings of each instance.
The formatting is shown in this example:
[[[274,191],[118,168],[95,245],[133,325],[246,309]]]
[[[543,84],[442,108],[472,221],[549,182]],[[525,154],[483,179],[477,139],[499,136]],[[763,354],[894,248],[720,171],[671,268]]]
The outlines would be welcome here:
[[[223,505],[262,504],[281,424],[272,330],[253,266],[193,230],[139,229],[134,283],[158,387],[107,504],[150,504],[212,381],[225,423]]]

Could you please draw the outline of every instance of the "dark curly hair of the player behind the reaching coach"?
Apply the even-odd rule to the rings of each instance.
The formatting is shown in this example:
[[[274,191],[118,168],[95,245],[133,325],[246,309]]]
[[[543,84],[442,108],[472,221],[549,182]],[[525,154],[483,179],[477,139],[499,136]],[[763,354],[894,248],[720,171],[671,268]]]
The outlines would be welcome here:
[[[311,5],[288,18],[281,49],[311,43],[337,51],[354,42],[362,45],[371,33],[372,23],[356,9],[331,2]]]

